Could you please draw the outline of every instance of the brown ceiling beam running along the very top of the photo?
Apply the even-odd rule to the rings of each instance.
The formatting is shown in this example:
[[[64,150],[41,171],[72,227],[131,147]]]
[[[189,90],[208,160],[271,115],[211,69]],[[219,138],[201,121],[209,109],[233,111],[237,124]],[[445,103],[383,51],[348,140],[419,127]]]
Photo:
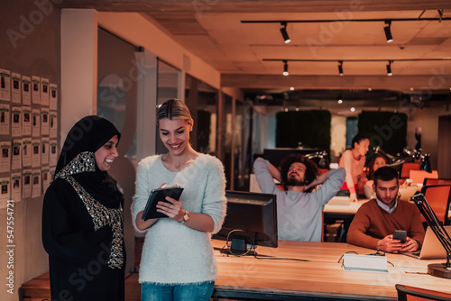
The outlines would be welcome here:
[[[330,13],[450,9],[449,0],[65,0],[61,8],[109,12],[165,13]]]

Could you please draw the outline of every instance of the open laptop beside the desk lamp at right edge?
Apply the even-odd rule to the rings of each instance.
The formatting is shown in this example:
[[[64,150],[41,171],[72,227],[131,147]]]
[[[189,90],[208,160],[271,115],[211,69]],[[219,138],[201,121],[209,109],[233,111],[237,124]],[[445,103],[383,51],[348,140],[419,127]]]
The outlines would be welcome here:
[[[444,226],[446,233],[451,237],[451,226]],[[446,258],[446,251],[438,241],[436,234],[428,227],[424,236],[423,246],[420,250],[413,252],[404,252],[404,255],[419,260],[434,260]]]

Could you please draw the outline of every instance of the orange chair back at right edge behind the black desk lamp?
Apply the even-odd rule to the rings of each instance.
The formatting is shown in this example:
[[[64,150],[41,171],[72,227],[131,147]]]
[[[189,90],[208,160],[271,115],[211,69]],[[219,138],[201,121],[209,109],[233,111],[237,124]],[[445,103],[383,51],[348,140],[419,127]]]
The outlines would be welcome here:
[[[451,200],[451,185],[425,186],[421,188],[421,193],[424,194],[432,210],[436,213],[438,221],[449,225],[450,219],[448,214]],[[426,222],[423,215],[421,215],[421,221],[423,223]]]

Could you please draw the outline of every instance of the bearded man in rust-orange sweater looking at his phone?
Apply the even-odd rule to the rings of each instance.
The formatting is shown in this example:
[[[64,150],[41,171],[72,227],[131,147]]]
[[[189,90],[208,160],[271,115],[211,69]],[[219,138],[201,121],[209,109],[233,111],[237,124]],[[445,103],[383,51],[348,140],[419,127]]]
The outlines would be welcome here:
[[[424,240],[419,210],[398,200],[398,172],[382,167],[374,172],[376,198],[360,207],[347,233],[347,242],[387,252],[416,251]],[[407,232],[406,242],[393,239],[395,230]]]

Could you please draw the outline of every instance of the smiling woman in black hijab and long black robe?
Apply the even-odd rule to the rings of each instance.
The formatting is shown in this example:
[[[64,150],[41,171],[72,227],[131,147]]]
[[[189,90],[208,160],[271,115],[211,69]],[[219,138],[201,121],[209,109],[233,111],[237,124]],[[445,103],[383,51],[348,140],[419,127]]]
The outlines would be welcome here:
[[[124,300],[122,194],[107,173],[120,136],[113,123],[87,116],[64,142],[42,212],[51,300]]]

